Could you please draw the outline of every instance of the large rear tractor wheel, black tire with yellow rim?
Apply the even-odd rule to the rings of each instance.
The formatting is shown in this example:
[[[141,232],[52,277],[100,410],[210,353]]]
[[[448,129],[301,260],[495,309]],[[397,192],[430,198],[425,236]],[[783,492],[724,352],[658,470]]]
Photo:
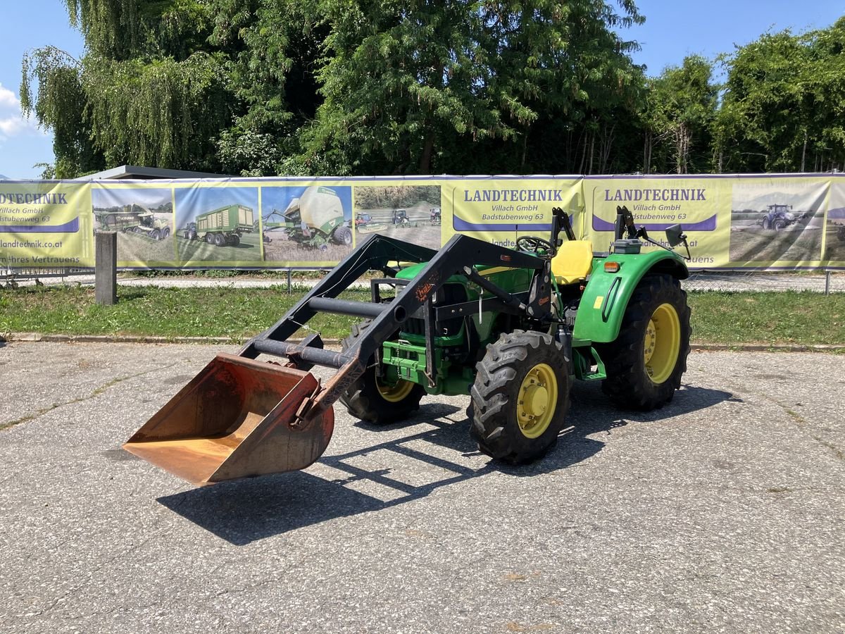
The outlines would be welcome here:
[[[671,401],[690,354],[690,308],[680,282],[668,275],[644,277],[616,341],[596,349],[608,374],[602,391],[614,402],[648,411]]]

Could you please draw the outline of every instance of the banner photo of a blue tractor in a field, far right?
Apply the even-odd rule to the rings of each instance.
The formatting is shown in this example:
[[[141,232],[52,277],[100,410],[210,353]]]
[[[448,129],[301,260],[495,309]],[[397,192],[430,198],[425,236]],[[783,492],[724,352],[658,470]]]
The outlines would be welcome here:
[[[828,187],[826,181],[809,178],[748,178],[734,182],[730,263],[818,263]]]

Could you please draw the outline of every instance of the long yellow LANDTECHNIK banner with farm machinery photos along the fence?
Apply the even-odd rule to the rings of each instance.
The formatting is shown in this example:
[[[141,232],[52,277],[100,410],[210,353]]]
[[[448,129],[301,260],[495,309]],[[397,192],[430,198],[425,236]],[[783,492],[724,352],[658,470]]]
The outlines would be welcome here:
[[[455,233],[515,247],[552,210],[604,252],[617,210],[695,270],[845,268],[845,175],[221,178],[0,181],[0,266],[94,265],[117,232],[122,268],[327,268],[380,233],[439,249]],[[646,244],[644,249],[660,247]]]

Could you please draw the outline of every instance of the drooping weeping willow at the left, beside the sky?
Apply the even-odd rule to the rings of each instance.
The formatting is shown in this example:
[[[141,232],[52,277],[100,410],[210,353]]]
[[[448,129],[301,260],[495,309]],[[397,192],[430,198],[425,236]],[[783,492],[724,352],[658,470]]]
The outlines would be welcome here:
[[[213,138],[232,118],[221,52],[208,50],[200,0],[65,0],[85,36],[75,60],[46,47],[24,59],[21,102],[56,133],[59,178],[121,163],[217,165]]]

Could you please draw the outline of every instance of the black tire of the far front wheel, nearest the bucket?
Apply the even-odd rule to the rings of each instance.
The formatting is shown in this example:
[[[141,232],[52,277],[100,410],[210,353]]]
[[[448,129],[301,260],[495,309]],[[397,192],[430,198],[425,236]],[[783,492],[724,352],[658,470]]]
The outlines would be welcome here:
[[[353,325],[350,335],[341,342],[341,350],[352,346],[352,343],[367,330],[370,323],[370,320],[366,320],[361,324]],[[423,386],[409,381],[400,381],[396,384],[396,388],[399,389],[391,390],[389,385],[383,384],[375,375],[375,364],[372,361],[372,359],[368,360],[364,374],[341,395],[341,403],[346,405],[346,410],[352,416],[370,423],[389,424],[408,418],[420,407],[420,399],[425,394]],[[387,396],[391,391],[395,397],[398,397],[396,400],[388,400]]]

